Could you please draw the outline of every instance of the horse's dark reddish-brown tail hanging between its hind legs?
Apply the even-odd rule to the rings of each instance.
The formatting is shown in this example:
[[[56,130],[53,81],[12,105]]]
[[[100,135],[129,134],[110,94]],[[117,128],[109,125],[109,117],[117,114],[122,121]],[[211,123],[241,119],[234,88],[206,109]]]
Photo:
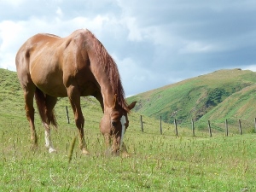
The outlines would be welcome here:
[[[44,94],[44,92],[42,90],[39,90],[38,87],[36,88],[36,91],[35,91],[35,98],[36,98],[36,102],[38,105],[38,112],[39,112],[39,115],[40,115],[42,121],[49,122],[50,124],[57,127],[57,122],[55,119],[55,111],[52,110],[51,116],[50,117],[47,116],[47,114],[46,114],[46,109],[47,109],[46,95]]]

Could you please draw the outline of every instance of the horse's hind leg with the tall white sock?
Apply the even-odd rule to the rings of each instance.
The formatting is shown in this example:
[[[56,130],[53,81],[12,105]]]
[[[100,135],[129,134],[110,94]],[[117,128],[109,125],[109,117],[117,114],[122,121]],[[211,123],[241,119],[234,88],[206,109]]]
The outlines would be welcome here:
[[[46,119],[43,120],[44,129],[45,129],[45,147],[49,148],[49,153],[55,152],[55,148],[53,147],[51,137],[50,137],[50,124],[56,126],[55,122],[55,114],[54,107],[57,102],[57,98],[53,96],[46,95],[45,98],[45,107],[46,107]]]

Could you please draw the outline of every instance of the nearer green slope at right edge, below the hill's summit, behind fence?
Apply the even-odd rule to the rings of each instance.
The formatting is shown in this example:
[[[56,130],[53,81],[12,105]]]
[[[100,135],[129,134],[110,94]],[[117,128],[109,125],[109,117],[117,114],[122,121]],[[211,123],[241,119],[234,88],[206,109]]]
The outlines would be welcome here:
[[[223,129],[225,119],[228,119],[230,128],[238,131],[238,119],[241,126],[248,131],[254,131],[254,119],[256,118],[256,84],[234,93],[221,102],[216,108],[206,113],[198,122],[201,128],[205,128],[207,120],[212,122],[212,127]]]

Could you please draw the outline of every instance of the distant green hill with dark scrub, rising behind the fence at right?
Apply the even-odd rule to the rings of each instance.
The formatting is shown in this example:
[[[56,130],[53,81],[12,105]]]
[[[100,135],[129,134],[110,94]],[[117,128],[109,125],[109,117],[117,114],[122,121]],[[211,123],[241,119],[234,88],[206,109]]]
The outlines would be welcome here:
[[[191,119],[225,119],[234,115],[247,119],[256,113],[253,107],[247,108],[254,100],[255,82],[256,73],[252,71],[219,70],[131,96],[128,101],[137,100],[137,112],[156,119],[161,116],[169,123],[173,119],[189,124]]]

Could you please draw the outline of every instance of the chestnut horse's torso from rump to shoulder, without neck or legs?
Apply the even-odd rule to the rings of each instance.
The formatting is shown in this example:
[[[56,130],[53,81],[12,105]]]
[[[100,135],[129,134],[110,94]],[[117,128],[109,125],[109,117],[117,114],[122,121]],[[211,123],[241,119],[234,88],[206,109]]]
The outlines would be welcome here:
[[[50,96],[67,96],[66,87],[76,82],[86,90],[94,87],[88,55],[93,38],[88,30],[77,30],[67,38],[43,33],[29,38],[16,55],[20,84],[32,82]]]

